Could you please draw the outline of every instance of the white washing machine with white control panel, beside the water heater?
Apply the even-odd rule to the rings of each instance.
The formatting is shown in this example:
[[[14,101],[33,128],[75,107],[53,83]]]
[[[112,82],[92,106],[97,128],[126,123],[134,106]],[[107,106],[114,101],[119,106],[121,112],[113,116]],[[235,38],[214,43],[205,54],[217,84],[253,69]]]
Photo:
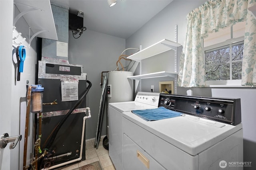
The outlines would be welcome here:
[[[108,151],[116,170],[123,169],[122,112],[157,108],[158,101],[159,93],[138,92],[134,101],[108,104]]]

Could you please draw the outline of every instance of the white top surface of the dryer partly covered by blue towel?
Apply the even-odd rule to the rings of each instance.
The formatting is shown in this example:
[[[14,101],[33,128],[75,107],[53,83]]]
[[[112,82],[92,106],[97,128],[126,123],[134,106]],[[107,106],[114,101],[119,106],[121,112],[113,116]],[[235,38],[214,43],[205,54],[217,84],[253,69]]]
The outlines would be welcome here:
[[[233,126],[186,114],[169,119],[145,121],[128,111],[123,113],[123,117],[191,155],[208,149],[242,129],[241,123]]]

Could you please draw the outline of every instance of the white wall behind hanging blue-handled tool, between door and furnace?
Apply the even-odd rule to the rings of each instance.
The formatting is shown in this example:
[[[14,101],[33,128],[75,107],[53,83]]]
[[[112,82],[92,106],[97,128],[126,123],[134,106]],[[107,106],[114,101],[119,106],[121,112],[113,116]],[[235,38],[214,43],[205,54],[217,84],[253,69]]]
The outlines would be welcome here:
[[[23,151],[24,151],[24,132],[25,132],[25,121],[26,121],[26,108],[27,108],[27,98],[26,98],[26,81],[29,81],[29,85],[37,84],[35,83],[36,78],[36,63],[37,63],[37,52],[38,47],[36,47],[36,38],[32,40],[31,46],[29,47],[29,27],[28,24],[24,21],[23,18],[20,18],[16,23],[16,30],[14,31],[14,35],[16,33],[20,32],[22,33],[22,37],[19,37],[19,39],[22,39],[23,37],[26,38],[26,41],[22,43],[22,45],[25,45],[26,48],[26,59],[24,61],[24,68],[23,72],[20,73],[20,81],[16,81],[16,65],[12,64],[12,121],[11,121],[11,135],[22,135],[22,140],[20,141],[20,156],[18,154],[11,152],[11,157],[17,160],[20,160],[20,162],[14,162],[11,164],[11,169],[16,169],[14,167],[17,167],[16,164],[19,164],[19,167],[23,166]],[[15,53],[16,49],[13,49],[13,53]],[[14,54],[14,58],[16,57],[16,54]],[[29,119],[29,130],[28,130],[28,148],[27,148],[27,165],[32,161],[32,156],[34,153],[34,115],[30,113],[30,119]]]

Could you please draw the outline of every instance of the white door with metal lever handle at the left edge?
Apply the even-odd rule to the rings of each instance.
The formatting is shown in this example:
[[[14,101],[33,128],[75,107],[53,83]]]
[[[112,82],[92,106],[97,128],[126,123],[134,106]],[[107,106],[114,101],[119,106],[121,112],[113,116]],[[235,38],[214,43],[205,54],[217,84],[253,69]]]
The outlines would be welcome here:
[[[12,111],[12,23],[13,0],[0,0],[0,135],[11,134],[11,111]],[[17,122],[18,123],[18,122]],[[0,149],[0,169],[10,170],[10,153],[8,144]],[[17,152],[18,154],[18,152]]]

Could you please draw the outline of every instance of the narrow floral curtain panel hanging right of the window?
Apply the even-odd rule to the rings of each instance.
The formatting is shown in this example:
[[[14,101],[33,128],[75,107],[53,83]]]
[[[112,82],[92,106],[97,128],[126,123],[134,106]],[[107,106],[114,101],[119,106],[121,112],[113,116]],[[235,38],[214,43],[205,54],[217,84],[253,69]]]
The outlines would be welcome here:
[[[244,56],[242,65],[242,86],[256,85],[256,19],[249,12],[255,10],[256,0],[249,0],[244,34]],[[252,8],[252,9],[251,9]]]

